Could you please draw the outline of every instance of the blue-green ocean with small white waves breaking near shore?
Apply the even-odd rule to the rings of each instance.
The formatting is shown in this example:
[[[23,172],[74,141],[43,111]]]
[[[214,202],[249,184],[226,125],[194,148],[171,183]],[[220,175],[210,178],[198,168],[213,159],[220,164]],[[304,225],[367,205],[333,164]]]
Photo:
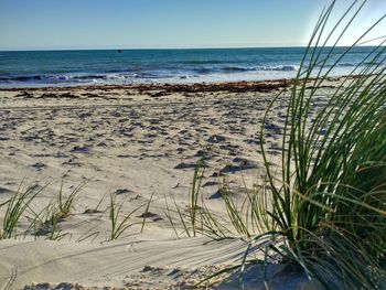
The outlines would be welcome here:
[[[332,75],[350,74],[372,50],[353,49]],[[344,51],[339,47],[326,67]],[[304,47],[0,52],[0,87],[291,78],[303,53]]]

